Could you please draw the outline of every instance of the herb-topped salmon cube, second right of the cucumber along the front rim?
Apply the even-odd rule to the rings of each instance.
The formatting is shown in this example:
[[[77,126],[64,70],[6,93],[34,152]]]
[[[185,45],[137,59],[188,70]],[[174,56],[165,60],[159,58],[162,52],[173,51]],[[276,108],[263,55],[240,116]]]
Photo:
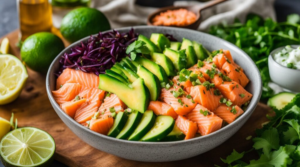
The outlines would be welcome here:
[[[187,118],[198,125],[198,132],[204,136],[208,135],[222,127],[223,120],[210,112],[207,108],[197,104],[193,111],[191,111]]]

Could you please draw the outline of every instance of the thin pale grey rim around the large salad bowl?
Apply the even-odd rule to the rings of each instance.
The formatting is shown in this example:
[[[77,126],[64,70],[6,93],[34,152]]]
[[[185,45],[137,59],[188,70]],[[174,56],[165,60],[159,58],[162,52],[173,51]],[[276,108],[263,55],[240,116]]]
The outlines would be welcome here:
[[[226,45],[229,45],[230,47],[233,47],[235,49],[237,49],[239,52],[243,53],[245,55],[245,59],[247,60],[247,63],[250,63],[254,69],[252,69],[252,72],[251,73],[255,73],[255,77],[257,77],[257,81],[258,82],[258,85],[260,85],[259,89],[254,89],[254,92],[255,92],[255,96],[252,97],[247,109],[245,110],[244,114],[242,114],[241,116],[239,116],[233,123],[231,124],[228,124],[226,125],[225,127],[222,127],[221,129],[213,132],[213,133],[210,133],[208,135],[205,135],[205,136],[199,136],[199,137],[195,137],[195,138],[192,138],[192,139],[189,139],[189,140],[180,140],[180,141],[160,141],[160,142],[140,142],[140,141],[129,141],[129,140],[123,140],[123,139],[117,139],[117,138],[114,138],[114,137],[110,137],[110,136],[107,136],[107,135],[103,135],[103,134],[100,134],[100,133],[97,133],[97,132],[94,132],[84,126],[82,126],[81,124],[79,124],[78,122],[76,122],[74,119],[72,119],[71,117],[69,117],[61,108],[60,106],[56,103],[56,101],[54,100],[53,96],[52,96],[52,92],[51,92],[51,89],[50,89],[50,73],[52,71],[52,68],[54,66],[54,64],[59,61],[59,58],[67,51],[69,50],[71,47],[74,47],[74,46],[77,46],[78,44],[80,44],[82,41],[85,41],[87,39],[90,38],[90,36],[87,36],[85,38],[82,38],[74,43],[72,43],[71,45],[69,45],[68,47],[66,47],[63,51],[61,51],[57,56],[56,58],[52,61],[49,69],[48,69],[48,72],[47,72],[47,76],[46,76],[46,91],[47,91],[47,95],[48,95],[48,98],[50,100],[50,102],[52,103],[53,105],[53,108],[56,107],[57,110],[59,112],[62,113],[62,115],[64,117],[66,117],[66,119],[68,119],[68,121],[72,122],[73,124],[75,124],[75,126],[77,126],[76,128],[80,128],[81,130],[84,130],[88,133],[92,133],[100,138],[103,138],[103,139],[106,139],[106,140],[112,140],[114,142],[122,142],[123,144],[138,144],[138,145],[165,145],[165,144],[170,144],[170,145],[176,145],[176,144],[183,144],[183,143],[192,143],[192,142],[197,142],[198,140],[203,140],[205,138],[210,138],[210,137],[213,137],[213,136],[218,136],[220,133],[222,132],[225,132],[227,129],[231,128],[231,127],[234,127],[236,124],[240,123],[241,121],[243,121],[243,118],[247,117],[249,114],[251,115],[253,113],[253,111],[255,110],[259,100],[260,100],[260,97],[261,97],[261,93],[262,93],[262,81],[261,81],[261,77],[260,77],[260,73],[259,73],[259,70],[257,68],[257,66],[255,65],[255,63],[253,62],[253,60],[243,51],[241,50],[240,48],[238,48],[237,46],[235,46],[234,44],[228,42],[228,41],[225,41],[219,37],[216,37],[216,36],[213,36],[213,35],[210,35],[210,34],[207,34],[207,33],[204,33],[204,32],[200,32],[200,31],[195,31],[195,30],[190,30],[190,29],[185,29],[185,28],[176,28],[176,27],[163,27],[163,26],[132,26],[132,27],[123,27],[123,28],[116,28],[116,29],[110,29],[110,30],[107,30],[107,31],[103,31],[103,32],[108,32],[108,31],[112,31],[112,30],[116,30],[116,31],[122,31],[122,30],[129,30],[131,28],[133,29],[153,29],[153,28],[158,28],[159,29],[166,29],[166,30],[174,30],[174,31],[184,31],[186,33],[199,33],[199,34],[202,34],[204,36],[207,36],[209,38],[215,38],[217,40],[220,40],[221,42],[224,42]],[[94,35],[97,35],[97,34],[94,34]],[[93,35],[93,36],[94,36]],[[253,93],[254,94],[254,93]],[[54,109],[55,110],[55,109]],[[56,110],[55,110],[56,111]],[[56,111],[57,112],[57,111]],[[68,126],[67,126],[68,127]],[[69,127],[68,127],[69,128]],[[71,128],[70,128],[71,129]],[[77,136],[77,135],[76,135]]]

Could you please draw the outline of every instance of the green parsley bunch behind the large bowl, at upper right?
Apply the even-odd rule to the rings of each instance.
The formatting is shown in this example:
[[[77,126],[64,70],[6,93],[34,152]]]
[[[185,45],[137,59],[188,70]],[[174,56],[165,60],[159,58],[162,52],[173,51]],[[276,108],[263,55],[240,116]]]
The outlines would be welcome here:
[[[253,59],[260,70],[262,98],[265,99],[274,94],[268,86],[268,56],[278,47],[300,44],[300,16],[292,14],[286,22],[277,23],[270,18],[264,20],[256,14],[249,14],[245,24],[236,19],[231,25],[224,23],[210,27],[209,33],[235,44]]]

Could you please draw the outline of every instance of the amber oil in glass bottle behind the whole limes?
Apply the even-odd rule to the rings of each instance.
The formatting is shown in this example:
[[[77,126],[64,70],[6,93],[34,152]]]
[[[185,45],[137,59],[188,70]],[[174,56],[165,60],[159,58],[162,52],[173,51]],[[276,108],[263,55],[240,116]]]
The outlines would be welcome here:
[[[52,8],[48,0],[18,0],[20,39],[37,32],[51,31]]]

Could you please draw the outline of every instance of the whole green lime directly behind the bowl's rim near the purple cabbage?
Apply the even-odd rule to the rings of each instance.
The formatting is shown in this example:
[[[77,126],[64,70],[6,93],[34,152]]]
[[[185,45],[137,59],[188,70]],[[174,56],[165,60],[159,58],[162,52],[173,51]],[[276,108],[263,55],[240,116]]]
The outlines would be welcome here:
[[[81,7],[69,12],[62,20],[60,32],[69,42],[110,29],[103,13],[97,9]]]

